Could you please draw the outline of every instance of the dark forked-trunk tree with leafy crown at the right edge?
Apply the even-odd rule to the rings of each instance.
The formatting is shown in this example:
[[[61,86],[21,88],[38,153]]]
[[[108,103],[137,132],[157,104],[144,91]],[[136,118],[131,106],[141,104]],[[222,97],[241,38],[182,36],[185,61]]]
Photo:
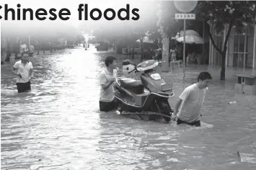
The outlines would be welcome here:
[[[206,23],[212,24],[217,34],[223,32],[225,26],[228,27],[223,48],[216,45],[213,40],[213,32],[208,27],[213,47],[221,54],[220,79],[225,80],[226,50],[231,28],[235,27],[237,32],[242,32],[247,23],[255,24],[255,1],[199,1],[195,13]]]

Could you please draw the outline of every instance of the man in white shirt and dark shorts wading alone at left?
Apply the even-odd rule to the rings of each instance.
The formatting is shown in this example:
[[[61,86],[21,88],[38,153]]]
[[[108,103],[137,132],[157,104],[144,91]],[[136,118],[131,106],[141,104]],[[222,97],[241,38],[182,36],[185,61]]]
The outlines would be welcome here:
[[[32,70],[33,66],[30,61],[28,61],[28,55],[25,53],[22,56],[21,61],[17,61],[13,68],[12,73],[17,76],[17,90],[18,93],[30,91],[30,79],[32,78],[34,71]]]

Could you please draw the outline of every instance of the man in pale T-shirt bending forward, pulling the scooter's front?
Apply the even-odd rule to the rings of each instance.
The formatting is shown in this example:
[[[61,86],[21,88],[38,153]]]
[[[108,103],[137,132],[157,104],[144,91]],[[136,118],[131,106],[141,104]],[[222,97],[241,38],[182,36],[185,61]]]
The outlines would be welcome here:
[[[175,105],[172,118],[177,118],[177,125],[185,123],[193,126],[200,126],[200,109],[208,91],[208,84],[211,81],[211,74],[201,72],[198,76],[198,83],[187,86],[180,94],[180,98]],[[180,107],[181,105],[181,107]],[[180,108],[179,113],[178,109]]]

